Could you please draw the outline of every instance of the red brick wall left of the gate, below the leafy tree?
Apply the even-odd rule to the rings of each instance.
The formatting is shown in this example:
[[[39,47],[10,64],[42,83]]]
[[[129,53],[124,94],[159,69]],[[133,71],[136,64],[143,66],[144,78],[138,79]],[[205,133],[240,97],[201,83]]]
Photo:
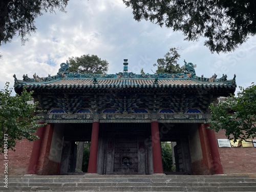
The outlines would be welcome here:
[[[33,142],[26,139],[17,141],[16,151],[8,150],[8,176],[10,175],[25,175],[27,174],[29,159],[31,156]],[[0,155],[0,175],[4,174],[4,154]]]

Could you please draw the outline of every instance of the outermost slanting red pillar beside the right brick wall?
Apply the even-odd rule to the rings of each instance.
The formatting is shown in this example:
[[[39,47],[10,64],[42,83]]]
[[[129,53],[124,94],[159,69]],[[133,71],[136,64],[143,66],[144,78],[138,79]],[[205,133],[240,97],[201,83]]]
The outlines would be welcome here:
[[[205,128],[209,126],[208,124],[204,125]],[[218,143],[216,141],[215,132],[210,129],[206,129],[206,133],[208,136],[209,144],[210,144],[210,152],[212,157],[212,162],[214,163],[214,172],[215,174],[223,174],[223,169],[221,165],[220,154],[218,150]]]

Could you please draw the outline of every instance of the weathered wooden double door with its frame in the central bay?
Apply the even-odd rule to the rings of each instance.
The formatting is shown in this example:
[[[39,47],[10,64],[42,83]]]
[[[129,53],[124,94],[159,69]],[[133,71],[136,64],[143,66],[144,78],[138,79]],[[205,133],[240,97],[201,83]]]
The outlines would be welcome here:
[[[105,142],[103,174],[148,174],[145,134],[109,133]]]

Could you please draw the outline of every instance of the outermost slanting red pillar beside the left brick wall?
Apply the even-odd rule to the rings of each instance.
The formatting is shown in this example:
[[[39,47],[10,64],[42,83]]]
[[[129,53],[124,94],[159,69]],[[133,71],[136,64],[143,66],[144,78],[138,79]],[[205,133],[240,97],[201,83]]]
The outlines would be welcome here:
[[[27,174],[36,174],[39,153],[40,153],[40,148],[42,143],[42,136],[44,135],[44,132],[45,132],[45,126],[39,127],[37,129],[36,135],[39,137],[39,139],[34,141],[31,157],[29,160],[29,167],[28,167]]]

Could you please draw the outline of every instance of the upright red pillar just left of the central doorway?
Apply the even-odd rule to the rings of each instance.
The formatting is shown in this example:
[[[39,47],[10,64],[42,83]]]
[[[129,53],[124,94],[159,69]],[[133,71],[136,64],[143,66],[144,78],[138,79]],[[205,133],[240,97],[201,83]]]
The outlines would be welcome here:
[[[99,140],[99,122],[93,122],[89,165],[87,173],[97,173],[97,154]]]

